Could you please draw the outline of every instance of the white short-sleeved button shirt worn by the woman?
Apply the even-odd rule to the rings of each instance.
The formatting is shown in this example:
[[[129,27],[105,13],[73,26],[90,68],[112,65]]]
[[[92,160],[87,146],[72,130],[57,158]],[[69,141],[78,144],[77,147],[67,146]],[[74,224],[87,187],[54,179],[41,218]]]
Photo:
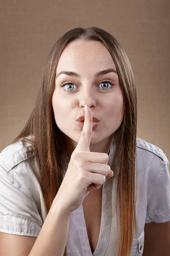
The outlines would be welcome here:
[[[139,233],[133,239],[130,256],[143,253],[145,223],[170,221],[169,161],[161,148],[139,137],[136,138],[136,153],[138,168],[136,216]],[[111,147],[108,165],[113,155],[114,148]],[[66,172],[70,159],[65,153],[63,157]],[[35,173],[40,175],[34,150],[30,144],[14,143],[0,153],[1,232],[21,236],[39,235],[47,213]],[[119,216],[118,223],[116,222],[116,182],[113,175],[103,184],[101,227],[93,256],[118,255],[120,234],[119,231],[117,233]],[[71,214],[67,250],[68,256],[92,256],[82,205]]]

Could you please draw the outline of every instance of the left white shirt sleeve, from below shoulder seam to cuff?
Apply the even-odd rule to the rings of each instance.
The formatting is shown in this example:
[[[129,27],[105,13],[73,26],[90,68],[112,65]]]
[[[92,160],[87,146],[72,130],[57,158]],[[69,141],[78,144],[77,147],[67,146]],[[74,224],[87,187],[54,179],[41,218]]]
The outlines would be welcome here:
[[[41,227],[40,214],[27,187],[19,176],[0,165],[0,231],[37,237]]]

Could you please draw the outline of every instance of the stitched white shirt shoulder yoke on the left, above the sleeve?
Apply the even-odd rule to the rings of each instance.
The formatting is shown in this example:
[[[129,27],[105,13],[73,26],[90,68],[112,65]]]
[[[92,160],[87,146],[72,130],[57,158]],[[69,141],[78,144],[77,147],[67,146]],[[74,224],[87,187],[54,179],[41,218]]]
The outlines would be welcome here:
[[[14,166],[34,155],[35,152],[31,143],[20,140],[8,145],[0,152],[0,165],[9,172]]]

